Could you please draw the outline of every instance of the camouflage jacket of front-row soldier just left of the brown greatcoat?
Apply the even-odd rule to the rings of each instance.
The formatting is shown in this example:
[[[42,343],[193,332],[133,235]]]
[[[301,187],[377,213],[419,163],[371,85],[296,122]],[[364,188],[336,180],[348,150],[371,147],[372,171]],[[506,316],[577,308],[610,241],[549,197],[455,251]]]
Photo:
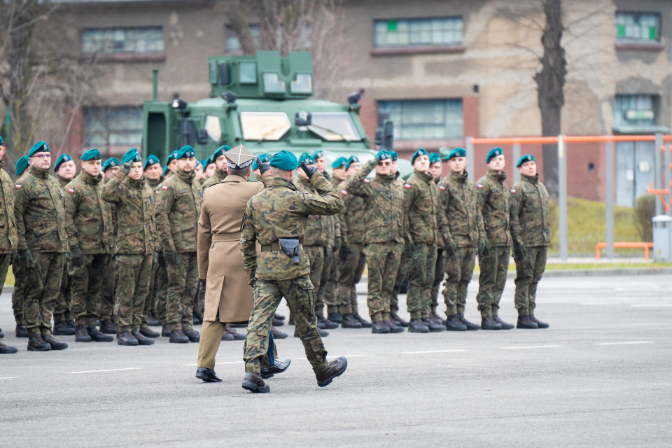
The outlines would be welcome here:
[[[203,189],[193,172],[178,169],[156,195],[156,225],[165,251],[196,252]]]

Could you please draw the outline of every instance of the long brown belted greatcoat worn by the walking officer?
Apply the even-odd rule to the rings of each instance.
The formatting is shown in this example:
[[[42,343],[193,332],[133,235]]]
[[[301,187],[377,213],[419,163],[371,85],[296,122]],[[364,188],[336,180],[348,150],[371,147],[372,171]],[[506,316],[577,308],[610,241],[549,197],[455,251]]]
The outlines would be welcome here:
[[[270,170],[262,181],[270,179]],[[262,182],[227,176],[204,190],[198,221],[198,276],[207,279],[204,321],[248,321],[254,307],[240,251],[240,225],[251,197]]]

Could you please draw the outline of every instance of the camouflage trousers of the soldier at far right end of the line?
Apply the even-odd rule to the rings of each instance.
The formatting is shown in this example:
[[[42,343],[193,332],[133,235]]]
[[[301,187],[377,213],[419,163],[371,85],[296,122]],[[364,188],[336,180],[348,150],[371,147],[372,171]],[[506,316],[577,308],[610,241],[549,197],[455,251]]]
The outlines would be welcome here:
[[[527,248],[527,257],[516,262],[516,295],[514,302],[519,316],[534,314],[537,306],[537,285],[546,270],[548,248],[533,246]]]

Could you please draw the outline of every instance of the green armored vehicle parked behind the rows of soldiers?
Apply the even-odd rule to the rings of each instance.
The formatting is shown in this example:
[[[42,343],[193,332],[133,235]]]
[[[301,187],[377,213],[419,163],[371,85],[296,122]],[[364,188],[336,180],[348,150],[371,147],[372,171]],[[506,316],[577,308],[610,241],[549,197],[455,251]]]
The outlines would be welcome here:
[[[253,56],[209,57],[211,97],[187,103],[157,101],[143,108],[143,154],[158,156],[184,145],[195,148],[199,160],[227,144],[243,144],[255,154],[274,154],[281,149],[297,156],[321,149],[331,164],[339,157],[356,155],[365,162],[375,155],[359,120],[359,96],[349,104],[309,99],[314,94],[313,66],[309,52],[260,51]],[[387,139],[391,147],[391,126]],[[412,169],[400,161],[402,175]]]

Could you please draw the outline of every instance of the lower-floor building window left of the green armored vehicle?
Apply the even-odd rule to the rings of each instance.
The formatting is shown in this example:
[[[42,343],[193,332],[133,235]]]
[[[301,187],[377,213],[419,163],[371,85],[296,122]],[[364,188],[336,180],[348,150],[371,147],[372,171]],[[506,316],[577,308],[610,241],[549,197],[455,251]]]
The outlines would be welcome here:
[[[142,108],[89,107],[85,111],[85,146],[141,146]]]

